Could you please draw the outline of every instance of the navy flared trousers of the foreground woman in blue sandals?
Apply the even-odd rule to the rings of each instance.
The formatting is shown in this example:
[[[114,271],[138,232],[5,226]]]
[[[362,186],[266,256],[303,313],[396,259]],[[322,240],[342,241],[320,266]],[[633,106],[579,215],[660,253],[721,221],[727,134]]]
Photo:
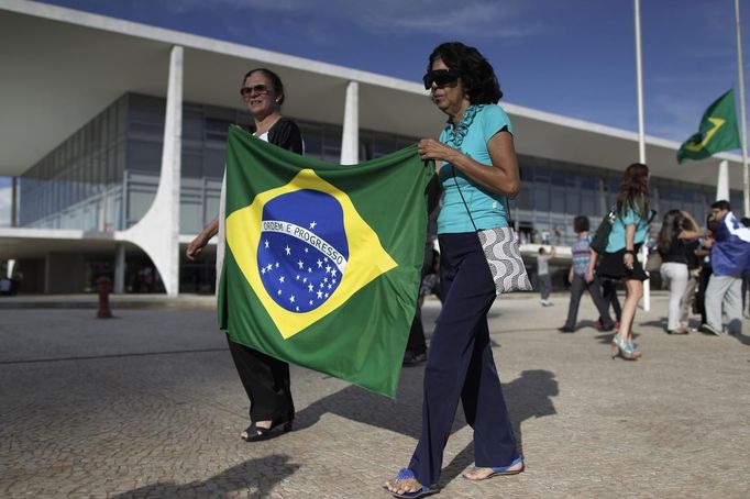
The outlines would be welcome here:
[[[489,342],[495,284],[479,240],[471,232],[443,234],[439,241],[445,301],[424,368],[422,433],[409,463],[427,486],[440,479],[459,400],[474,429],[477,466],[508,466],[519,457]]]

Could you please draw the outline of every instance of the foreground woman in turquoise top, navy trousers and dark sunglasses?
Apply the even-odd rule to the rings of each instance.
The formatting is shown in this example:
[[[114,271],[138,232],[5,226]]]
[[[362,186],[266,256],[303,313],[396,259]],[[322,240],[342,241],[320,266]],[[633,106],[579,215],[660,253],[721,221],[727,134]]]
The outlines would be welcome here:
[[[438,218],[444,303],[424,368],[422,433],[409,466],[388,480],[396,497],[437,492],[443,450],[461,400],[474,429],[470,480],[523,469],[495,367],[487,312],[495,284],[477,230],[507,226],[506,197],[520,189],[512,125],[497,106],[495,71],[476,48],[444,43],[430,55],[424,88],[448,115],[440,140],[419,153],[434,159],[444,190]]]

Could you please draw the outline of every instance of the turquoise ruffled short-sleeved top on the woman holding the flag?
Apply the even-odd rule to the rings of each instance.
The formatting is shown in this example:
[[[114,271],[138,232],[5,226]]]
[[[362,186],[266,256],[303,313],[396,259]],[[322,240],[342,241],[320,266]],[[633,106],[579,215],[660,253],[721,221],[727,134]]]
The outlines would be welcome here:
[[[492,168],[493,162],[487,151],[487,142],[504,127],[512,133],[510,120],[499,106],[470,106],[459,125],[459,133],[453,133],[453,125],[449,122],[440,134],[440,142],[457,148],[474,160],[487,165],[487,168]],[[449,163],[444,163],[440,168],[440,182],[443,186],[444,196],[438,217],[438,234],[474,232],[466,207],[472,211],[477,230],[508,226],[505,195],[489,191],[474,184],[459,168],[454,168]],[[463,200],[461,195],[463,195]],[[464,200],[466,206],[464,206]]]

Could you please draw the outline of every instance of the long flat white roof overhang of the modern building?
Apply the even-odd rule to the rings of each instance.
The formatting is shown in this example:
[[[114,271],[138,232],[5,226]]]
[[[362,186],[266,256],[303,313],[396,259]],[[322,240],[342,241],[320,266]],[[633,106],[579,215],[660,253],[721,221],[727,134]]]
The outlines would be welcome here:
[[[22,0],[0,0],[0,176],[18,176],[124,92],[164,97],[169,51],[185,48],[184,99],[242,108],[247,69],[277,70],[285,113],[341,124],[346,85],[360,84],[360,127],[435,136],[443,115],[420,84],[219,40]],[[12,47],[12,48],[10,48]],[[633,96],[635,106],[635,96]],[[503,103],[519,154],[613,170],[638,159],[633,132]],[[741,186],[741,158],[719,154],[677,165],[679,144],[647,136],[652,175],[715,186],[728,159],[730,186]]]

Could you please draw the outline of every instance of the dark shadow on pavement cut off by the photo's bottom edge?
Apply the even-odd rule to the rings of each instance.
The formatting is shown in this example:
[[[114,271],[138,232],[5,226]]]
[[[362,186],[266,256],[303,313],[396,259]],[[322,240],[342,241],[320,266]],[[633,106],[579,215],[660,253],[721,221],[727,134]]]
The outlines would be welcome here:
[[[232,466],[206,480],[195,480],[184,485],[174,481],[157,481],[109,497],[111,499],[224,497],[229,492],[255,489],[254,492],[243,497],[260,499],[267,497],[276,484],[299,469],[298,464],[288,463],[288,461],[289,456],[286,455],[271,455]],[[262,473],[262,469],[267,473]]]

